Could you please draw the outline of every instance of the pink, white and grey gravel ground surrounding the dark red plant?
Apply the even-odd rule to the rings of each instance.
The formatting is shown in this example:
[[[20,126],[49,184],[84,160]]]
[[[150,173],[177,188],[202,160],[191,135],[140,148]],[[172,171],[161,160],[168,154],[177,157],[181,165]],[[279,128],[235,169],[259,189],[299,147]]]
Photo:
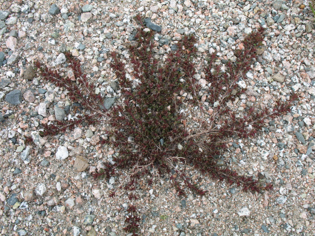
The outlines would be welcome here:
[[[285,99],[290,90],[300,96],[289,114],[267,123],[261,136],[233,140],[225,154],[233,169],[260,173],[258,178],[273,183],[274,191],[244,193],[181,166],[209,194],[179,199],[169,179],[162,177],[140,193],[141,234],[315,235],[315,30],[307,1],[0,3],[1,235],[126,235],[127,195],[108,197],[124,172],[107,182],[89,175],[115,154],[111,147],[95,145],[106,127],[82,124],[41,138],[41,124],[69,118],[72,104],[65,91],[43,81],[29,66],[39,59],[66,73],[63,53],[70,50],[84,62],[89,80],[97,83],[95,92],[119,97],[108,53],[115,49],[129,58],[122,49],[134,38],[132,17],[138,12],[151,18],[147,27],[158,31],[160,55],[183,34],[194,32],[197,64],[215,50],[222,62],[233,59],[244,33],[263,25],[264,47],[247,73],[251,93],[233,105],[239,111],[254,101],[271,107],[272,100]],[[200,71],[200,83],[202,77]],[[108,100],[109,107],[112,102]],[[25,145],[24,135],[35,143]]]

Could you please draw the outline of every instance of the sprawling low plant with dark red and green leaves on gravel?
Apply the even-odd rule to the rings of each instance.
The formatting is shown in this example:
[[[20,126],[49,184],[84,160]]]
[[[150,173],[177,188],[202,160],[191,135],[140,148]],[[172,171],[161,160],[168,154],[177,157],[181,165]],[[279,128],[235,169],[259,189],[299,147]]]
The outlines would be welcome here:
[[[219,159],[227,151],[231,138],[253,138],[263,127],[266,118],[273,119],[287,113],[297,99],[292,92],[286,102],[275,101],[272,110],[252,106],[238,112],[229,108],[229,102],[246,92],[239,84],[245,80],[245,74],[257,56],[256,49],[262,45],[264,29],[259,28],[246,36],[242,41],[243,49],[234,53],[236,60],[228,60],[224,68],[217,64],[217,52],[209,54],[202,78],[209,86],[202,88],[196,81],[198,71],[193,62],[196,57],[195,36],[184,36],[176,44],[176,49],[170,50],[160,60],[155,57],[155,32],[145,29],[140,15],[135,20],[140,27],[135,36],[136,43],[128,48],[131,58],[128,63],[132,65],[132,71],[127,72],[127,62],[117,52],[111,53],[111,67],[117,76],[122,96],[121,102],[118,101],[108,111],[102,106],[101,96],[94,93],[93,83],[89,83],[81,71],[80,62],[71,54],[66,54],[66,57],[74,72],[74,81],[35,62],[43,78],[64,87],[69,91],[68,97],[83,107],[83,113],[77,120],[43,125],[45,129],[41,134],[53,135],[73,128],[82,121],[93,124],[106,117],[111,128],[99,144],[112,145],[119,155],[113,158],[112,163],[105,161],[105,167],[93,173],[93,177],[109,179],[121,169],[128,172],[110,196],[115,197],[118,189],[124,189],[128,194],[130,204],[124,229],[133,235],[138,235],[140,229],[135,200],[140,191],[141,177],[150,176],[147,184],[151,185],[154,179],[168,175],[178,195],[185,196],[188,190],[198,195],[206,194],[206,190],[180,170],[180,163],[190,163],[202,173],[241,186],[245,191],[272,189],[272,184],[259,183],[255,176],[239,175],[222,166]],[[201,90],[206,94],[203,98],[199,95]],[[207,109],[204,102],[209,104]],[[180,112],[192,107],[198,107],[201,114],[196,121],[189,121],[189,117]],[[207,120],[204,119],[206,116]],[[192,129],[187,120],[195,122],[197,128]]]

